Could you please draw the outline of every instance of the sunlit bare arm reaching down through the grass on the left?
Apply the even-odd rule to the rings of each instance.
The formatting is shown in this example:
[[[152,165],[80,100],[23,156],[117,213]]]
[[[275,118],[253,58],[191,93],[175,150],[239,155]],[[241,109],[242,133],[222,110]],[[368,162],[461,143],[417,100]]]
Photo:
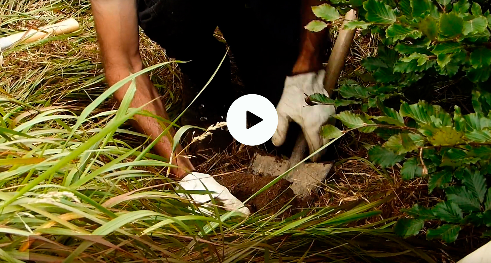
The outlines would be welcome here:
[[[109,86],[112,86],[131,73],[143,69],[138,49],[136,0],[91,0],[91,4],[106,80]],[[127,83],[114,93],[118,102],[122,101],[129,85]],[[168,120],[164,103],[158,97],[159,94],[147,74],[136,77],[136,93],[130,104],[131,107],[140,107],[153,100],[143,109]],[[154,118],[141,115],[136,115],[134,118],[136,128],[153,139],[164,131],[161,124]],[[171,134],[173,133],[171,129]],[[169,138],[163,136],[154,149],[159,155],[169,158],[172,144]],[[181,149],[179,146],[177,152],[180,152]],[[189,159],[184,157],[174,158],[172,164],[180,167],[171,169],[171,172],[180,178],[187,171],[194,169]]]

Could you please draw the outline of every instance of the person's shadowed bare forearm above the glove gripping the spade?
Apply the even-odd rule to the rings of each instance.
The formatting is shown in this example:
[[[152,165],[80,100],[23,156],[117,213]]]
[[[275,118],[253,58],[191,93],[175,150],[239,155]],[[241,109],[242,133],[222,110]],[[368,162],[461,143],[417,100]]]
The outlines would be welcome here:
[[[321,70],[323,45],[327,41],[328,30],[312,32],[304,29],[303,26],[312,20],[318,19],[312,12],[312,6],[320,4],[319,0],[302,0],[301,1],[301,26],[300,35],[300,54],[297,63],[293,67],[292,73],[301,74]]]

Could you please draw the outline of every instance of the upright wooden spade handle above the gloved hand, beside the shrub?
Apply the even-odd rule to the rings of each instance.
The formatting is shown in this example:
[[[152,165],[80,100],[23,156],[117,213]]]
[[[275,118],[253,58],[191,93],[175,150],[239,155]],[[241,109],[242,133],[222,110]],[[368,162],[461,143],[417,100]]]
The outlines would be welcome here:
[[[355,19],[355,10],[352,9],[348,13],[346,13],[343,25],[341,25],[338,37],[336,38],[336,43],[334,44],[334,48],[332,48],[331,55],[329,56],[329,60],[327,61],[326,76],[324,78],[324,88],[326,89],[329,96],[331,96],[332,90],[334,90],[336,82],[341,75],[346,55],[348,54],[351,42],[353,42],[353,38],[355,37],[355,29],[343,28],[346,23],[348,23],[350,20]]]

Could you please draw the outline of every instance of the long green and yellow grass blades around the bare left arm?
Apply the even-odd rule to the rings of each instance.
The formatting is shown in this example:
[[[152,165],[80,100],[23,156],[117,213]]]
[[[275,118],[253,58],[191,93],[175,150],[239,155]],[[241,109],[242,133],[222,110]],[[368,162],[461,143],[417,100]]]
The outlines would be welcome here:
[[[91,29],[74,34],[71,43],[94,40],[88,1],[0,4],[2,26],[37,14],[54,22],[60,10]],[[391,196],[305,209],[284,220],[281,211],[245,218],[218,206],[203,214],[176,194],[165,176],[167,160],[151,154],[148,144],[125,139],[146,138],[122,126],[141,114],[129,108],[135,86],[119,108],[107,107],[110,95],[142,72],[103,90],[98,62],[78,46],[70,49],[75,55],[26,61],[41,44],[3,54],[11,57],[0,96],[2,262],[433,262],[391,234],[391,218],[373,220]],[[31,72],[16,72],[13,61],[24,61]],[[144,71],[171,71],[174,64]],[[169,97],[170,107],[175,97]]]

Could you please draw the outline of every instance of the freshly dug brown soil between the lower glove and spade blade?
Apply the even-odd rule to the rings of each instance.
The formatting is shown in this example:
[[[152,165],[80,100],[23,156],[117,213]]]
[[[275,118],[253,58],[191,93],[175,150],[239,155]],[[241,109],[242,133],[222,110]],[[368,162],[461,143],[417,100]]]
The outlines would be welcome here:
[[[273,179],[273,176],[253,175],[248,172],[239,172],[222,175],[217,178],[217,181],[225,186],[235,197],[244,202]],[[293,198],[293,201],[290,202],[292,207],[279,215],[279,217],[295,215],[300,212],[299,208],[302,205],[302,201],[299,198],[296,198],[293,191],[288,188],[290,185],[290,182],[281,179],[279,182],[247,202],[247,208],[249,208],[251,213],[259,211],[259,214],[273,215],[281,210],[283,206]]]

